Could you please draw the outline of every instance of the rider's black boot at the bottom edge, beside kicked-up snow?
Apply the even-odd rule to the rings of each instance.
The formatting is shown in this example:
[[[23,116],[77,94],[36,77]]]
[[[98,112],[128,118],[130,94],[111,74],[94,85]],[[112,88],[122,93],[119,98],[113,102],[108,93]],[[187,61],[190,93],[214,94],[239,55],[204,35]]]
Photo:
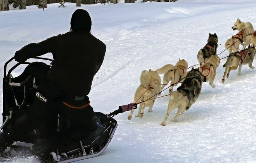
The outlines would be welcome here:
[[[32,153],[40,159],[41,163],[58,163],[50,152],[52,152],[51,144],[45,139],[38,140],[32,146]]]

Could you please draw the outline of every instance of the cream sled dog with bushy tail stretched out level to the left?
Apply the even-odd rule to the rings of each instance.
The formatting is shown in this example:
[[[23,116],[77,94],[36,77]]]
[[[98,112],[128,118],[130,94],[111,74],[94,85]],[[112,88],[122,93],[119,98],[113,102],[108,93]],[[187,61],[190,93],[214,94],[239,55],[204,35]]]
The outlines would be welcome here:
[[[187,61],[185,61],[184,59],[181,60],[179,58],[179,61],[176,63],[175,66],[171,64],[167,64],[167,65],[164,65],[162,68],[157,69],[157,72],[159,74],[164,74],[163,85],[160,89],[160,92],[169,83],[169,81],[171,81],[171,83],[177,83],[179,82],[179,80],[184,79],[184,77],[187,75],[187,68],[188,68]],[[174,72],[175,72],[175,77],[174,77]],[[180,82],[182,81],[183,80],[181,80]],[[178,83],[174,84],[174,86],[177,86],[177,85]],[[169,93],[171,93],[172,90],[173,90],[173,86],[169,88]],[[159,95],[160,94],[161,93],[159,93]]]

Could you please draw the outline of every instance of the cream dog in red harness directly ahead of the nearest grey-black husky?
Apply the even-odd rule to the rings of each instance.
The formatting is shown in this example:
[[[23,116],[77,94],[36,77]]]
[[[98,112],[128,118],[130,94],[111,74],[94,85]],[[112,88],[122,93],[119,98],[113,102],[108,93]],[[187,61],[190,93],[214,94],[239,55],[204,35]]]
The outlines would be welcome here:
[[[215,79],[217,73],[217,67],[220,65],[220,58],[217,54],[211,56],[207,62],[203,62],[200,67],[199,71],[205,76],[206,81],[209,81],[209,84],[212,88],[215,88],[215,84],[213,81]]]

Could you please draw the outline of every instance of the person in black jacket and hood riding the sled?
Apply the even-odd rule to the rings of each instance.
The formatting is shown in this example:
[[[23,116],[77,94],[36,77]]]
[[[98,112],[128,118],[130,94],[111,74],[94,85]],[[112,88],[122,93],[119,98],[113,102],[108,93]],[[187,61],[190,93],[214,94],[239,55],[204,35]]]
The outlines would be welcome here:
[[[0,134],[0,153],[27,132],[39,126],[49,126],[60,112],[73,126],[61,137],[79,140],[96,130],[94,111],[87,95],[93,77],[102,65],[106,45],[91,35],[91,26],[89,13],[77,9],[72,15],[70,32],[31,43],[15,53],[18,62],[46,53],[52,53],[54,61],[45,78],[39,80],[33,105]],[[42,135],[42,141],[33,146],[34,154],[42,163],[56,162],[46,143],[64,141],[51,136]],[[56,144],[51,147],[58,146]]]

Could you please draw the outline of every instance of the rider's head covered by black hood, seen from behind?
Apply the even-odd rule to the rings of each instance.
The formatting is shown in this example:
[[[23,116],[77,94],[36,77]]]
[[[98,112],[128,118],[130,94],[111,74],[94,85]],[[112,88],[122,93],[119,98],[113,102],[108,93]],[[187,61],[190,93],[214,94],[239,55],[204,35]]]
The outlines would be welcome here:
[[[87,11],[83,9],[77,9],[72,15],[70,25],[71,25],[70,31],[90,32],[92,28],[92,19]]]

